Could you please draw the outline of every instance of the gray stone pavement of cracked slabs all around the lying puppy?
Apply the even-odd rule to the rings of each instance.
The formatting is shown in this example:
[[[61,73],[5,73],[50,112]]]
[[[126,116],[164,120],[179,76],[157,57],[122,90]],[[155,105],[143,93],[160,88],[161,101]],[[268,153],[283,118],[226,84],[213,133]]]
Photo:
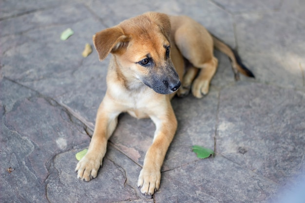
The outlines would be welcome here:
[[[151,120],[127,114],[97,178],[77,180],[106,91],[109,57],[92,35],[146,11],[188,15],[238,51],[256,79],[235,82],[227,56],[203,99],[174,98],[179,127],[160,189],[136,184]],[[305,174],[305,1],[1,0],[1,203],[271,203]],[[75,34],[66,41],[66,28]],[[198,159],[192,145],[215,148]]]

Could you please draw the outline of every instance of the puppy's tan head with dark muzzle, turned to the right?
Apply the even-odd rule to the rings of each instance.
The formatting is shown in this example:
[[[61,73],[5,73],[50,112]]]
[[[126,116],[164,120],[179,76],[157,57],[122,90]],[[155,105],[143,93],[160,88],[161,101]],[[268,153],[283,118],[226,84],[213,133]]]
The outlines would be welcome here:
[[[100,60],[114,55],[124,79],[138,79],[161,94],[180,87],[172,64],[171,23],[167,15],[149,12],[125,20],[93,36]]]

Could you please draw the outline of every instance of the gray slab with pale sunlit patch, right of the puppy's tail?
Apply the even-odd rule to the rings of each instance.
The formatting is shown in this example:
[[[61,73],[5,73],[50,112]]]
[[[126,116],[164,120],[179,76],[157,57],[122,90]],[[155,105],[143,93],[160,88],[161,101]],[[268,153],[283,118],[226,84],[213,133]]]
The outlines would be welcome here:
[[[257,80],[304,88],[304,22],[281,12],[243,14],[235,19],[239,53]]]

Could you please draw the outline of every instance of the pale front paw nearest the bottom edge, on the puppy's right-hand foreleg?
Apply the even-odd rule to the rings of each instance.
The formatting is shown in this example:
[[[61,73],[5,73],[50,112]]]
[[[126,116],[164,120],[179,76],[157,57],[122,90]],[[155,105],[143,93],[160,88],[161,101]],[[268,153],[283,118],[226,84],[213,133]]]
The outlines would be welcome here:
[[[161,179],[160,170],[143,168],[139,175],[138,187],[143,194],[152,195],[159,189]]]

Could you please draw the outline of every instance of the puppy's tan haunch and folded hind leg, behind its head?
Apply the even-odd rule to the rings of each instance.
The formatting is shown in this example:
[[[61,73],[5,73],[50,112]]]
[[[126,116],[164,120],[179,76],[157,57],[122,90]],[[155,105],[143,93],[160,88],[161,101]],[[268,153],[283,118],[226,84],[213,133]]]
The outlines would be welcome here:
[[[172,21],[179,25],[174,40],[180,52],[193,67],[201,69],[191,87],[192,94],[201,98],[202,94],[209,92],[210,80],[218,65],[218,60],[213,55],[213,39],[206,28],[189,17],[172,17]],[[185,84],[182,85],[189,85],[196,75],[194,70],[187,73]]]

